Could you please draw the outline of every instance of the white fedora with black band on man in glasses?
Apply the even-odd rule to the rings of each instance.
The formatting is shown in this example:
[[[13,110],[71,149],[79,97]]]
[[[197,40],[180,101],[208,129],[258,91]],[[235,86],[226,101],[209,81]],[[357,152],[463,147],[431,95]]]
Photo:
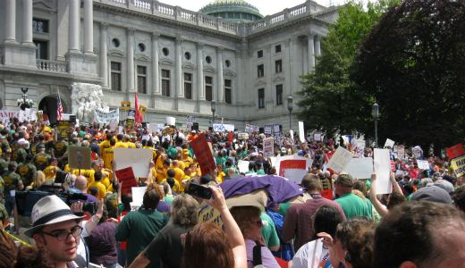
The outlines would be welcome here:
[[[32,207],[30,217],[32,228],[24,232],[30,238],[44,226],[84,218],[84,216],[73,214],[70,206],[55,195],[40,198],[36,205]]]

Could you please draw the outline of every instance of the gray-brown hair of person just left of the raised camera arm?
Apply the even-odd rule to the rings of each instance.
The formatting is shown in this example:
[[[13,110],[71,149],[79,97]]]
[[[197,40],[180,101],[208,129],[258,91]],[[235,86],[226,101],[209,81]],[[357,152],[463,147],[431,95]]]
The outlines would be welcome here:
[[[171,221],[183,226],[197,224],[199,214],[199,202],[188,194],[174,197],[171,208]]]

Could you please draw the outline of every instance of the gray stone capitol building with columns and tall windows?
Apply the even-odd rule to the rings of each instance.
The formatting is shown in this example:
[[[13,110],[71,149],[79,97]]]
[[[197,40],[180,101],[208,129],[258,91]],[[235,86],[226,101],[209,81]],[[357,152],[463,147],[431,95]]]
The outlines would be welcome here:
[[[213,0],[212,0],[213,1]],[[305,0],[302,0],[305,1]],[[163,2],[163,0],[162,0]],[[27,95],[56,120],[57,94],[72,113],[72,85],[99,85],[110,109],[147,107],[200,129],[215,121],[243,130],[289,127],[299,112],[300,76],[315,68],[337,7],[315,1],[268,16],[243,0],[215,0],[194,12],[156,0],[2,0],[0,109]],[[297,120],[292,120],[297,129]]]

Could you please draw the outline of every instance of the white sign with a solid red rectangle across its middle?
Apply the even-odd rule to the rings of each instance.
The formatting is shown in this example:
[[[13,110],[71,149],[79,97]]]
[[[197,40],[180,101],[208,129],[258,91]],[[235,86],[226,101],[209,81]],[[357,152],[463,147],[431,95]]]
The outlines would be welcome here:
[[[309,171],[310,160],[308,157],[297,155],[278,156],[276,170],[279,176],[300,184],[303,176]]]

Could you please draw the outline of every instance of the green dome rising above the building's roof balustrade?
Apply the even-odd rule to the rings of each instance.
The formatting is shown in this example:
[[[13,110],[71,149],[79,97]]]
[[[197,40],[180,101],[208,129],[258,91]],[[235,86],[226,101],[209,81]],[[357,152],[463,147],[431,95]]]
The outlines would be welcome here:
[[[263,18],[257,7],[244,0],[215,0],[199,12],[230,21],[258,21]]]

